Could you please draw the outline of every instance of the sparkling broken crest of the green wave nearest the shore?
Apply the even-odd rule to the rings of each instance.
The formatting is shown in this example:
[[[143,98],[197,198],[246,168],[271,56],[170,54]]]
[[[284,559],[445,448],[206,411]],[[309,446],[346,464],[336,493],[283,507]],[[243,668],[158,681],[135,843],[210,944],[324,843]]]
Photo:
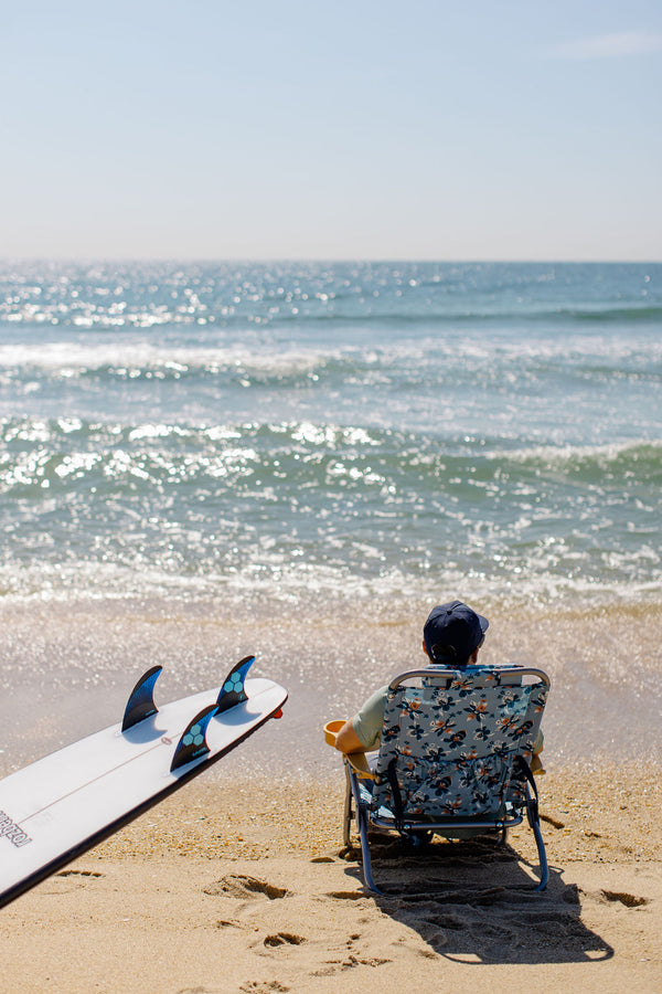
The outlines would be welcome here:
[[[456,478],[470,486],[490,477],[523,478],[546,473],[558,480],[632,478],[634,484],[656,484],[662,474],[660,440],[533,446],[522,446],[513,440],[504,447],[499,435],[445,438],[429,432],[298,420],[122,424],[76,416],[4,417],[0,419],[0,443],[6,465],[12,451],[24,456],[30,447],[38,448],[43,457],[58,453],[63,458],[67,450],[73,452],[81,446],[97,453],[121,447],[135,458],[152,456],[159,466],[169,458],[174,463],[181,459],[192,473],[196,457],[206,468],[210,457],[236,450],[258,453],[267,473],[274,468],[274,461],[281,465],[284,459],[291,459],[298,464],[290,467],[297,469],[298,477],[308,467],[310,482],[323,479],[324,457],[338,456],[354,466],[375,464],[389,476],[410,476],[424,491]],[[354,477],[359,478],[356,474]]]

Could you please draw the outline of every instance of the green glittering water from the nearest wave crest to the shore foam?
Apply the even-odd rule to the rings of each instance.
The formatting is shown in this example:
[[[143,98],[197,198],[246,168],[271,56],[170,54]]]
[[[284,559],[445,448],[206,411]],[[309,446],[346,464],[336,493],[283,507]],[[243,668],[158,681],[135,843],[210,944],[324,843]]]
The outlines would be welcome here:
[[[440,570],[540,590],[662,582],[659,443],[460,451],[333,423],[72,417],[6,420],[1,441],[8,575],[44,565],[65,583],[84,561],[146,589],[406,588]]]

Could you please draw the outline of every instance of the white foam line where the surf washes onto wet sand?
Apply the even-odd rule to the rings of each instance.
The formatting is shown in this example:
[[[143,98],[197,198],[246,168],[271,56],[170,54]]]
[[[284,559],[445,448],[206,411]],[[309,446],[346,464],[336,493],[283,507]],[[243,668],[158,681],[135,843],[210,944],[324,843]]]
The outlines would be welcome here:
[[[160,600],[164,604],[220,602],[225,610],[233,603],[238,610],[259,602],[260,610],[287,604],[295,610],[354,610],[356,605],[429,603],[438,592],[461,591],[470,602],[508,601],[542,610],[567,603],[573,610],[591,610],[610,604],[660,603],[662,579],[655,573],[629,569],[620,572],[576,574],[545,569],[532,561],[525,567],[501,570],[467,570],[437,564],[434,569],[412,571],[393,565],[378,572],[362,573],[346,565],[320,562],[302,563],[282,557],[265,562],[246,559],[243,568],[214,569],[212,562],[196,573],[173,571],[158,564],[103,562],[71,556],[66,563],[0,561],[0,604],[60,602],[75,605],[85,601]]]

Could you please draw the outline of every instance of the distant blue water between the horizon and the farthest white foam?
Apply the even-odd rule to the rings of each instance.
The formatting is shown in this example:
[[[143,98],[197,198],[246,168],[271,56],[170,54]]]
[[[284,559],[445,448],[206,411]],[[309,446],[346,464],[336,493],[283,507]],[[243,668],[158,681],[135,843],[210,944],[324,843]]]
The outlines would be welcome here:
[[[659,320],[660,265],[0,261],[0,321],[73,328],[364,328]]]

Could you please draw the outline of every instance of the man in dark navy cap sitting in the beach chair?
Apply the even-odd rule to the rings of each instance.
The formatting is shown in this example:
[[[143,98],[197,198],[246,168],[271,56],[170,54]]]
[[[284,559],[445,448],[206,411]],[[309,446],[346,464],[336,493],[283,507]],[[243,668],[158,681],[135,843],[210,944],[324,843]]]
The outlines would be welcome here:
[[[461,601],[450,601],[434,607],[423,628],[423,651],[430,666],[463,669],[478,665],[478,652],[484,642],[489,621]],[[381,687],[367,698],[361,710],[345,721],[335,737],[340,752],[369,752],[377,749],[384,723],[384,707],[388,686]],[[538,734],[532,769],[542,771],[537,753],[543,737]]]

